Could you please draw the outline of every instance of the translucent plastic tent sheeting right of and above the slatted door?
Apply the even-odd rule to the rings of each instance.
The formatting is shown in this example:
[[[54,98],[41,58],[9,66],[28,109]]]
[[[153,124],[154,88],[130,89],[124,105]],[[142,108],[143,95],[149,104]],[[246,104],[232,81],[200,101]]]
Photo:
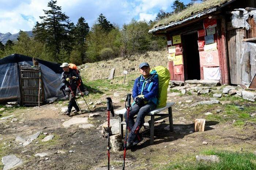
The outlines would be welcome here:
[[[23,61],[19,62],[19,64],[23,66],[32,66],[33,62]],[[50,97],[63,97],[63,93],[60,91],[60,88],[63,85],[60,81],[61,74],[55,73],[52,69],[41,63],[39,63],[39,66],[41,66],[41,78],[44,83],[45,99]]]

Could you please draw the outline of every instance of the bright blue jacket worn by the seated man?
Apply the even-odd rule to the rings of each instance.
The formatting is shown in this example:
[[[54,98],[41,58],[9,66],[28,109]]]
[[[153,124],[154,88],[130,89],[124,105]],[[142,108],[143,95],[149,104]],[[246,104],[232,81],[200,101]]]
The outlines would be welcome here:
[[[150,77],[152,77],[151,81],[149,81]],[[146,81],[142,75],[140,77],[136,78],[134,85],[133,85],[133,89],[132,89],[132,97],[134,100],[135,97],[137,97],[139,95],[144,95],[146,101],[153,102],[155,105],[157,105],[158,74],[157,73],[150,74],[150,77],[146,78]],[[145,81],[145,83],[144,83],[144,81]],[[143,92],[142,92],[142,88],[143,88]],[[141,92],[142,92],[142,94],[141,94]]]

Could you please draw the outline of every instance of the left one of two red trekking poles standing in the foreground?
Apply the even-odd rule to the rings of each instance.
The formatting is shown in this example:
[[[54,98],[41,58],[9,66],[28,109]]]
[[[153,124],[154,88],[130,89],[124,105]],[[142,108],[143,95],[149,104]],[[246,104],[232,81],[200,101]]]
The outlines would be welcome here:
[[[110,161],[110,143],[109,143],[109,132],[110,132],[110,111],[112,113],[112,116],[114,116],[114,110],[113,110],[113,105],[112,105],[112,100],[110,97],[107,97],[107,111],[108,111],[108,170],[109,170],[109,161]]]

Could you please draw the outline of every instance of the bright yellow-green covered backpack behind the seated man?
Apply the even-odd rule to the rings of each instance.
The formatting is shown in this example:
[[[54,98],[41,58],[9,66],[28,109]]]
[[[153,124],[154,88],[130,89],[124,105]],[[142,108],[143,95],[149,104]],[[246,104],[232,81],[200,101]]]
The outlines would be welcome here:
[[[152,71],[156,71],[158,74],[158,102],[157,108],[166,106],[167,102],[167,89],[170,81],[170,72],[166,67],[157,66]]]

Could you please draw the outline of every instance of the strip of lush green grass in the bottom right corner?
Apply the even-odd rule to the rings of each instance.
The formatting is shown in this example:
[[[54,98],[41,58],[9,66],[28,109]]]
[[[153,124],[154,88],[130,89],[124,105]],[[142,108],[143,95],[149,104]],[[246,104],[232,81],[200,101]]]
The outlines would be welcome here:
[[[250,152],[238,153],[231,151],[204,150],[200,154],[217,155],[220,159],[218,163],[196,161],[195,155],[186,161],[176,161],[169,163],[165,170],[255,170],[256,155]],[[184,159],[183,159],[184,160]]]

